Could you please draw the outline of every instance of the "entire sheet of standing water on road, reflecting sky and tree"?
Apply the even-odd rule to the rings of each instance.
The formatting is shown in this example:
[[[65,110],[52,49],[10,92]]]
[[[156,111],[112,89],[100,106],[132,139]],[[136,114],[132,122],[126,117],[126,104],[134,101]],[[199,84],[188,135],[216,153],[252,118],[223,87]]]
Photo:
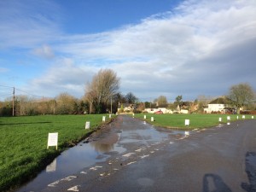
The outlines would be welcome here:
[[[113,123],[94,132],[77,146],[64,151],[38,177],[18,191],[40,191],[57,179],[81,172],[85,167],[105,161],[113,154],[125,153],[129,145],[134,143],[148,146],[183,136],[183,131],[155,129],[143,121],[119,116]]]

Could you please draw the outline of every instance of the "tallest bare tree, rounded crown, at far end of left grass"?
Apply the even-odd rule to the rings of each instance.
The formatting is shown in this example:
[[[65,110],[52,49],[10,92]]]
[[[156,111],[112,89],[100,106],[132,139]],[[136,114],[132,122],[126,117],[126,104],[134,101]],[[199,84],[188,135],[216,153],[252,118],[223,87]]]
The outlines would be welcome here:
[[[119,78],[111,69],[101,69],[86,85],[85,98],[94,104],[96,113],[106,113],[108,103],[119,90]]]

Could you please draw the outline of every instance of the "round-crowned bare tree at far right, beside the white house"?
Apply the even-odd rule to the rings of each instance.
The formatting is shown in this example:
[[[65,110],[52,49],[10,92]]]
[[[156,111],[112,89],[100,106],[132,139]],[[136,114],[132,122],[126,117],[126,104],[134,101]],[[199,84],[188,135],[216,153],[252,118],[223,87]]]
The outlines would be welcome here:
[[[240,113],[240,108],[248,105],[253,101],[254,93],[250,84],[236,84],[230,87],[230,99],[234,102],[237,108],[237,113]]]

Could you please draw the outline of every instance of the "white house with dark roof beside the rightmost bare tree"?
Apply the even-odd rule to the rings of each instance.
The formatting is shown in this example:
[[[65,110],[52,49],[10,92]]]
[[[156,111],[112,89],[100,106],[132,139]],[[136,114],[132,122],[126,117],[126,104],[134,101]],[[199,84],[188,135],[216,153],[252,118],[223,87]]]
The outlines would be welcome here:
[[[212,100],[207,105],[207,108],[204,108],[205,113],[227,113],[230,111],[232,100],[225,96],[218,97],[215,100]]]

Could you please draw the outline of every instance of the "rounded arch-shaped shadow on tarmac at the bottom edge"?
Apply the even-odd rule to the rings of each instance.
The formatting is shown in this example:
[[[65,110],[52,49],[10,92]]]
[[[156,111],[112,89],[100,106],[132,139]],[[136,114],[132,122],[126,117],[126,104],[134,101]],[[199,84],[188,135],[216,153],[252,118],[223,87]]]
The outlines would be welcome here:
[[[216,174],[208,173],[203,178],[202,192],[232,192],[224,183],[221,177]]]

